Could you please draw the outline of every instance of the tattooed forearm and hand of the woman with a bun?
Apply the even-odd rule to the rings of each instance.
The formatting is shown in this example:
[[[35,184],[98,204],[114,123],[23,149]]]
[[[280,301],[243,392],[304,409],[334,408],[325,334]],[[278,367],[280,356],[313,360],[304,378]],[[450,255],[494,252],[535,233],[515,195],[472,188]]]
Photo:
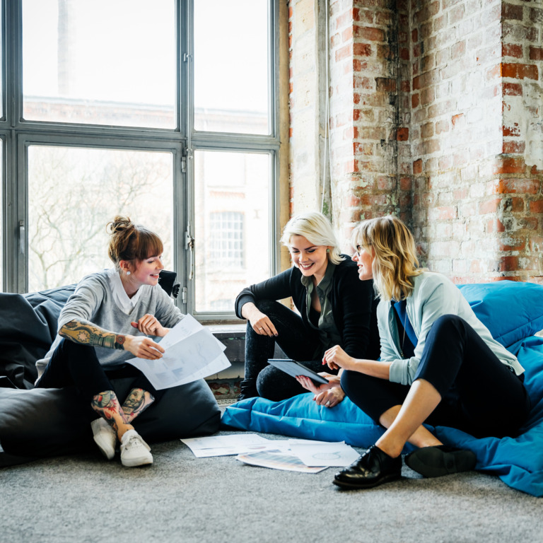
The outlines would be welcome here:
[[[107,349],[122,349],[129,351],[138,358],[155,360],[160,358],[164,349],[148,337],[115,334],[88,320],[71,320],[59,330],[59,334],[82,345],[106,347]]]

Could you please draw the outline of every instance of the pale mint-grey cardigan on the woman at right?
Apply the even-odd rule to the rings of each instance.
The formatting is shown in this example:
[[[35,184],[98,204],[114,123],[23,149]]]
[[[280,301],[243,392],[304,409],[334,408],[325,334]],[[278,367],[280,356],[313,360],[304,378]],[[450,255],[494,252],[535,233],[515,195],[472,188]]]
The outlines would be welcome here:
[[[406,300],[407,318],[417,337],[414,356],[403,358],[398,329],[396,326],[395,310],[392,304],[380,300],[377,308],[379,336],[381,341],[381,360],[392,362],[390,366],[390,381],[411,385],[416,368],[419,367],[421,356],[426,344],[426,336],[430,328],[441,315],[458,315],[462,317],[481,336],[500,361],[513,368],[517,375],[524,372],[513,354],[498,343],[489,329],[477,318],[460,289],[452,281],[441,274],[424,271],[413,277],[414,291]]]

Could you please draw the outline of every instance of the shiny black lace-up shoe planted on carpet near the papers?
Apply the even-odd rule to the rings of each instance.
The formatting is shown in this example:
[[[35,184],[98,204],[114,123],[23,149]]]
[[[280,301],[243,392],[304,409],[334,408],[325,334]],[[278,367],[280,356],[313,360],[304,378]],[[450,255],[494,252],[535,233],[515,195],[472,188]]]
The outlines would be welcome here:
[[[344,489],[370,489],[402,477],[402,457],[392,458],[375,445],[334,476],[334,484]]]

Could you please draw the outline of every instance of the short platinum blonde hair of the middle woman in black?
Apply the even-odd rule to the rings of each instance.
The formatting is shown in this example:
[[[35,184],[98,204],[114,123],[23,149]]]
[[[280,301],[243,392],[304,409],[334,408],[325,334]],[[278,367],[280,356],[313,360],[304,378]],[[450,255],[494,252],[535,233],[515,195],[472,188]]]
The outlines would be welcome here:
[[[318,211],[308,211],[308,213],[302,213],[291,218],[285,225],[283,235],[281,235],[281,243],[286,247],[291,247],[293,235],[303,235],[313,245],[327,245],[330,247],[327,256],[332,264],[339,264],[345,259],[345,257],[341,256],[339,241],[332,224],[325,215]]]

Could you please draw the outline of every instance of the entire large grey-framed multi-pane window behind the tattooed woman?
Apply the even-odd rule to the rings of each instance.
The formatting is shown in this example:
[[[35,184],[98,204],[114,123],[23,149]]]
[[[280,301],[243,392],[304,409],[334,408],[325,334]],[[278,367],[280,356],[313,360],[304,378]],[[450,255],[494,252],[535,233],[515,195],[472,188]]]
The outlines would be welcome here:
[[[276,1],[1,8],[2,290],[109,267],[122,214],[165,241],[182,310],[232,317],[276,271]]]

